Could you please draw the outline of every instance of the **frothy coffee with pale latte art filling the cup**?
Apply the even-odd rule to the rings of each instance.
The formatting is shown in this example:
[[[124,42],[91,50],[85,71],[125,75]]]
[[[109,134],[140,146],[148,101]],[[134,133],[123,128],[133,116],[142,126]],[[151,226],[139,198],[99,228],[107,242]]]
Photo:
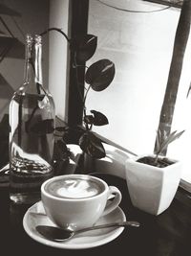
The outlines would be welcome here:
[[[104,186],[98,180],[82,177],[61,177],[48,182],[45,191],[56,198],[92,198],[104,191]]]

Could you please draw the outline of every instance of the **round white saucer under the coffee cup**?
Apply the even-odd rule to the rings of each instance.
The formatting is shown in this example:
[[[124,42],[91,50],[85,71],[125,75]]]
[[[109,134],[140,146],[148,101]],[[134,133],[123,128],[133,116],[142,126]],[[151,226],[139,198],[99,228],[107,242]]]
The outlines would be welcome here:
[[[101,217],[96,224],[110,223],[115,221],[126,221],[125,214],[119,207],[117,207],[117,209],[112,213]],[[65,249],[83,249],[107,244],[116,239],[124,229],[124,227],[103,228],[81,233],[74,236],[73,239],[67,242],[53,242],[45,239],[37,232],[35,226],[39,224],[54,225],[53,222],[46,216],[41,201],[33,204],[32,207],[26,212],[23,219],[24,229],[33,240],[41,244]]]

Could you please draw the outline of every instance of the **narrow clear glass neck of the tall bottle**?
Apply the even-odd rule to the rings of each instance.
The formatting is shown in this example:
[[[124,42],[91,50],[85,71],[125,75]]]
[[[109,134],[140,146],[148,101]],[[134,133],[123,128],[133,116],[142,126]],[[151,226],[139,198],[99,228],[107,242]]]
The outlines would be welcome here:
[[[40,37],[40,36],[39,36]],[[38,38],[39,38],[38,37]],[[28,35],[26,42],[26,58],[24,70],[25,84],[34,83],[38,87],[42,85],[42,44],[41,38]]]

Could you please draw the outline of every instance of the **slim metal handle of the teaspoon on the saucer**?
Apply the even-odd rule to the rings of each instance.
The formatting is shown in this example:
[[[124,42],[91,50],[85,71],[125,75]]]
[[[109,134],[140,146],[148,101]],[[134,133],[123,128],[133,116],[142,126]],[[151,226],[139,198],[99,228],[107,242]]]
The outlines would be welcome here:
[[[107,228],[107,227],[113,227],[113,226],[134,226],[138,227],[140,224],[138,221],[120,221],[120,222],[114,222],[114,223],[108,223],[108,224],[102,224],[102,225],[95,225],[92,227],[83,228],[80,230],[74,231],[75,234],[86,232],[90,230],[100,229],[100,228]]]

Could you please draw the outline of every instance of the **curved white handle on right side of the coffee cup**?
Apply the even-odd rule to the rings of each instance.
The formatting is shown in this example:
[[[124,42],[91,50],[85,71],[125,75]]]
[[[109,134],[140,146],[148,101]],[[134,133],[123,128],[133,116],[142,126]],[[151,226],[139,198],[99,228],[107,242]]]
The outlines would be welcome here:
[[[112,211],[114,211],[117,208],[118,204],[120,203],[122,196],[121,196],[120,191],[117,189],[117,187],[109,186],[108,199],[110,199],[110,198],[113,198],[113,200],[109,201],[106,204],[106,207],[103,211],[102,216],[107,215],[107,214],[111,213]]]

